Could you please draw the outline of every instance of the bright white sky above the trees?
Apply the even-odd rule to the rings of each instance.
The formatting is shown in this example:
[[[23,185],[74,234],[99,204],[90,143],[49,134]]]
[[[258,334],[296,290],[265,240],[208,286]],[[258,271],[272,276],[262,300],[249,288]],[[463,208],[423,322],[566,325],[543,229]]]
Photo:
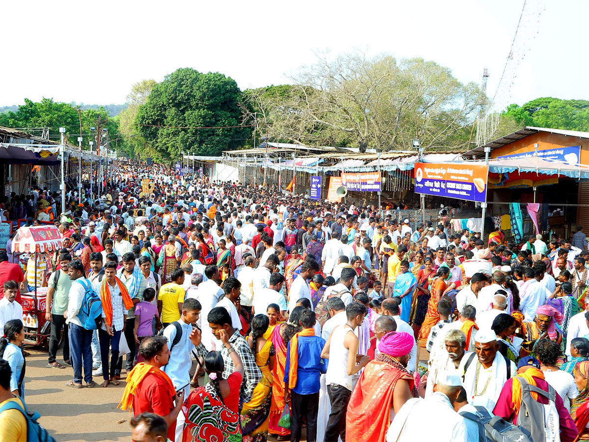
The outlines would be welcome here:
[[[589,99],[583,21],[589,2],[542,4],[522,30],[527,52],[509,102]],[[217,71],[241,89],[287,83],[315,52],[422,57],[462,82],[497,88],[523,0],[5,1],[0,105],[38,101],[121,104],[131,85],[180,67]],[[222,5],[222,6],[220,6]],[[545,9],[544,9],[545,7]],[[104,55],[101,55],[104,54]],[[38,64],[38,67],[37,67]]]

